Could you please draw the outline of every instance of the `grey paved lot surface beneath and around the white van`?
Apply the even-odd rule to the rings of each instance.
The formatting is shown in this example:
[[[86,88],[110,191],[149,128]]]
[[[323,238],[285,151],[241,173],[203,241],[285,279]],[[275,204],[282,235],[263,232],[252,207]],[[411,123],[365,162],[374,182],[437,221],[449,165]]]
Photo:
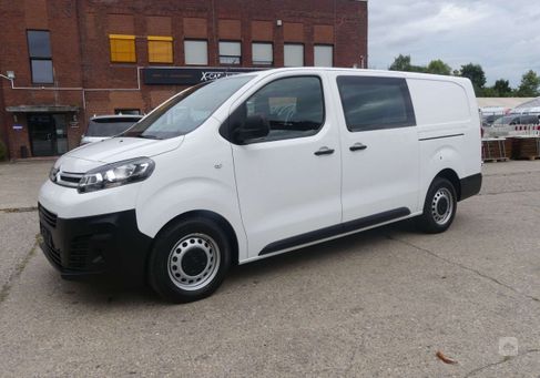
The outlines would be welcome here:
[[[50,165],[0,165],[1,377],[540,376],[540,161],[486,164],[444,234],[348,236],[177,306],[59,277],[32,210]]]

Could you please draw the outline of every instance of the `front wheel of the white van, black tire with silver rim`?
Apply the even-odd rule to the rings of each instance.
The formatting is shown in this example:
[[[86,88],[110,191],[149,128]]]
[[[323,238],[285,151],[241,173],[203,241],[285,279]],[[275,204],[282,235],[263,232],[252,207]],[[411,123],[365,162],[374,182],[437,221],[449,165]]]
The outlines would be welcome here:
[[[230,239],[216,222],[204,217],[175,222],[156,236],[147,266],[150,285],[172,303],[205,298],[225,278],[231,255]]]

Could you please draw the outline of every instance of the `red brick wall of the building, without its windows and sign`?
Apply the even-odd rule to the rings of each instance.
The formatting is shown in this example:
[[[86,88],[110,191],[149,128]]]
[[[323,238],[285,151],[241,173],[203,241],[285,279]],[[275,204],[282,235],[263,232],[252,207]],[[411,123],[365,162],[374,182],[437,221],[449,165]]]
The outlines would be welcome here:
[[[14,71],[17,88],[1,80],[0,120],[10,156],[31,151],[26,114],[7,113],[20,105],[69,105],[69,147],[77,146],[88,119],[115,109],[147,112],[179,85],[139,89],[137,67],[150,64],[147,35],[173,38],[173,63],[184,67],[184,39],[208,42],[208,65],[218,67],[218,41],[242,42],[241,67],[252,67],[252,42],[273,42],[274,64],[284,64],[284,43],[304,44],[305,65],[314,64],[314,44],[334,45],[335,67],[367,67],[367,2],[353,0],[22,0],[1,1],[0,72]],[[281,20],[282,25],[277,24]],[[49,30],[54,84],[32,84],[27,30]],[[135,35],[136,63],[111,63],[109,34]],[[361,58],[360,58],[361,57]],[[43,86],[43,88],[42,88]],[[1,98],[0,98],[1,99]],[[14,116],[17,115],[17,121]],[[13,124],[22,130],[13,130]],[[1,134],[0,134],[1,136]]]

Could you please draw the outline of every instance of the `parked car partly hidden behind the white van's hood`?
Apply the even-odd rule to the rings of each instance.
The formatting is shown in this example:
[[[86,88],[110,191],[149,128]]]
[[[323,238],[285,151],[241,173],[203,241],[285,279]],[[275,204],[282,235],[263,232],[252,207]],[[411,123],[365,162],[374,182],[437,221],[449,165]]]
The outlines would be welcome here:
[[[86,133],[81,136],[81,145],[100,142],[122,134],[137,123],[142,115],[98,115],[90,119]]]

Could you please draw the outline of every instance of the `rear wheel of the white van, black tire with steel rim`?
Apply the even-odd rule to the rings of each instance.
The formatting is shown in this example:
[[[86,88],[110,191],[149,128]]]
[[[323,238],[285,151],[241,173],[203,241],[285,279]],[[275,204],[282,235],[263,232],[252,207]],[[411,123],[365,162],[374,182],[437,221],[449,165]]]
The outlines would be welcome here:
[[[452,183],[444,177],[435,177],[424,202],[424,213],[417,218],[418,227],[428,234],[447,231],[456,216],[457,205]]]

